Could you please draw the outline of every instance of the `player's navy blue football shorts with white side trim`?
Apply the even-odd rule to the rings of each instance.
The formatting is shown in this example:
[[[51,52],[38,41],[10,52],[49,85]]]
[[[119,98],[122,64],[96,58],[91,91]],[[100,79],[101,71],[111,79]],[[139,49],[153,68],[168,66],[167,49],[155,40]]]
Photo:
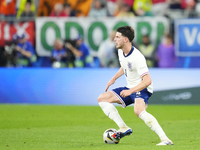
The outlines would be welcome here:
[[[119,88],[113,89],[111,91],[121,101],[123,108],[125,108],[128,105],[133,104],[135,102],[136,98],[142,98],[142,99],[144,99],[144,102],[146,104],[148,104],[148,100],[151,97],[152,93],[147,91],[147,88],[145,88],[144,90],[142,90],[140,92],[132,93],[130,96],[127,96],[125,98],[121,97],[120,92],[123,90],[128,90],[128,89],[129,88],[127,88],[127,87],[119,87]]]

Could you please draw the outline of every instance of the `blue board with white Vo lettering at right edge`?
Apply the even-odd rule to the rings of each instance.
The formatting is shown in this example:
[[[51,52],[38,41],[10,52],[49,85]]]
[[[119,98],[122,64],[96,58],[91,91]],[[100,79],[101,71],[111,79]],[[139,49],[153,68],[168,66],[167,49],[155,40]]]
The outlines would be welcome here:
[[[200,56],[200,20],[180,19],[175,21],[176,55]]]

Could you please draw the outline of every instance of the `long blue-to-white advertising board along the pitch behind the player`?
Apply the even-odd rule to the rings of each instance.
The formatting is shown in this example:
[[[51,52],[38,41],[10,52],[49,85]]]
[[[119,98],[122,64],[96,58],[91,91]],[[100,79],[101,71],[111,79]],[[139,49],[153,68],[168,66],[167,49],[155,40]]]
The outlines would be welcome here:
[[[98,96],[117,71],[0,68],[0,103],[98,105]],[[150,69],[150,74],[151,103],[200,103],[200,69]],[[126,86],[124,76],[109,90],[119,86]]]

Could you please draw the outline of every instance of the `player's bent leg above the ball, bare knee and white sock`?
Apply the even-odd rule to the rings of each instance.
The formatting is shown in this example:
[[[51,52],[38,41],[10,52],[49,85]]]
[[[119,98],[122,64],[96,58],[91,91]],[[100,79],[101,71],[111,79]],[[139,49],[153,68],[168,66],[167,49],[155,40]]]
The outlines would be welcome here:
[[[127,125],[122,120],[117,109],[112,103],[121,104],[120,100],[111,92],[105,92],[98,97],[98,103],[103,112],[112,119],[120,129],[127,128]]]

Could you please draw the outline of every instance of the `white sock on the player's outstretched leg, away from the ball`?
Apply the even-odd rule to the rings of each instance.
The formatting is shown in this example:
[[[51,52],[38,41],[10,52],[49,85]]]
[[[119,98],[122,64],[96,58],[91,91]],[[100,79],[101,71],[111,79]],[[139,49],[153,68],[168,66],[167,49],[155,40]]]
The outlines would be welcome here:
[[[150,113],[144,110],[140,113],[139,118],[142,119],[152,131],[156,132],[156,134],[160,137],[161,141],[169,140],[156,118]]]

